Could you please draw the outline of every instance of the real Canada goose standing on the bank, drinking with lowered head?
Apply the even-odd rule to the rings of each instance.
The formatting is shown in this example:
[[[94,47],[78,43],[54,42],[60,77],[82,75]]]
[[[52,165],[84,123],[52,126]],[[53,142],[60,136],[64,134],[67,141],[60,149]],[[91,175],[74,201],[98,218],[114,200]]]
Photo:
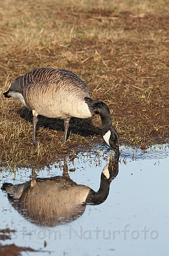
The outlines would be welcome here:
[[[91,100],[86,83],[69,70],[31,70],[16,78],[10,89],[3,94],[6,98],[18,99],[32,110],[33,144],[37,144],[35,131],[38,115],[64,120],[64,143],[71,117],[88,118],[98,114],[102,119],[104,140],[112,149],[119,149],[119,134],[112,126],[109,108],[102,101]]]

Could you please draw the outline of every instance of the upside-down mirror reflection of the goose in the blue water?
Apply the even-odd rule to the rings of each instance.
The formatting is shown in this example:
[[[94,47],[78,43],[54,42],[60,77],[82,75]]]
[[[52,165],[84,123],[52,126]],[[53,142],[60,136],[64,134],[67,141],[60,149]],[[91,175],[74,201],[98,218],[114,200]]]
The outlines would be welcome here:
[[[97,192],[78,185],[69,177],[64,163],[62,177],[36,178],[32,171],[31,181],[12,185],[3,183],[14,209],[36,225],[54,227],[77,219],[85,212],[86,205],[102,204],[108,194],[112,180],[119,172],[119,156],[111,157],[100,177]]]

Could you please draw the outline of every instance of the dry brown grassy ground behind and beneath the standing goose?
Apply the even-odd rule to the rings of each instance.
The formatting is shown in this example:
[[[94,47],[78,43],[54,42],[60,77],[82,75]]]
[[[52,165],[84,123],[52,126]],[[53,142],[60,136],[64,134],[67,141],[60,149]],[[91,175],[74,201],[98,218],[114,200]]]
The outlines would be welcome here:
[[[168,1],[0,2],[0,90],[37,67],[64,68],[112,112],[121,143],[145,148],[168,136]],[[32,116],[20,102],[0,105],[2,164],[46,165],[77,146],[103,141],[100,119],[73,119],[64,147],[63,123],[40,117],[37,147]]]

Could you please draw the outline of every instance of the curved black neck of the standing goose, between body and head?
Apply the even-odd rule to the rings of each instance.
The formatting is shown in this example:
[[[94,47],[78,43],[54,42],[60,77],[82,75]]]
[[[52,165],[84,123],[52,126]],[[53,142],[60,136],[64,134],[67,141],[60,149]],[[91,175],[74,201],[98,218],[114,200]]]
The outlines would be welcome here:
[[[107,105],[99,100],[91,100],[90,98],[85,98],[90,113],[92,116],[98,114],[102,119],[103,130],[109,130],[109,126],[112,125],[111,113]]]

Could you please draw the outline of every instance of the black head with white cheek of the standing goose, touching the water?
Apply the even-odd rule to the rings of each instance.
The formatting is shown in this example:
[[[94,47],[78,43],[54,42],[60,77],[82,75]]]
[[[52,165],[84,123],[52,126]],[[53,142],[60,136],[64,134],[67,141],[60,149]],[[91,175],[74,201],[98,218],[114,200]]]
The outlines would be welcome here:
[[[119,134],[112,125],[109,127],[109,130],[103,134],[103,138],[112,150],[119,155]]]

